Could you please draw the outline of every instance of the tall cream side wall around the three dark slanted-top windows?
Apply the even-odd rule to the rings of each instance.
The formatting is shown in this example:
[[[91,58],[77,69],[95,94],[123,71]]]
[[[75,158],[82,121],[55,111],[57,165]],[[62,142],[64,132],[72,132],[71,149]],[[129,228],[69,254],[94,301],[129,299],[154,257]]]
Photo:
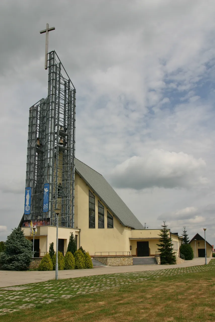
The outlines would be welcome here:
[[[95,196],[95,228],[89,228],[89,190]],[[104,226],[98,228],[98,197],[89,189],[78,174],[75,176],[75,227],[81,229],[80,244],[90,255],[95,252],[130,251],[129,237],[131,228],[123,227],[116,217],[113,217],[114,228],[107,228],[107,208],[104,206]],[[111,211],[108,209],[108,212]]]

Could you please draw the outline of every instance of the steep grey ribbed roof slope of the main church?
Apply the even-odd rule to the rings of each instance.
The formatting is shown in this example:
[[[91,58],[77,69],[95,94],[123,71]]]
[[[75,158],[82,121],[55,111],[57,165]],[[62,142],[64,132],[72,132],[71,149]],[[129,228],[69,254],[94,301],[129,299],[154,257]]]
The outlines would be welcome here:
[[[116,191],[109,185],[103,175],[76,158],[74,163],[77,174],[97,194],[103,204],[118,218],[123,226],[144,229],[143,225],[118,196]]]

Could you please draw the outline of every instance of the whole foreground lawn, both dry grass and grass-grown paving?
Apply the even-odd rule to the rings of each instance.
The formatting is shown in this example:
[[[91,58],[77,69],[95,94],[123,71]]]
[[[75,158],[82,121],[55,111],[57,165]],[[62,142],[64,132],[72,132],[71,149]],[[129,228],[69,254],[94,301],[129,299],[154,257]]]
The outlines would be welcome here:
[[[8,303],[1,308],[17,309],[1,315],[0,321],[215,321],[215,260],[207,266],[51,280],[25,287],[0,289],[1,302],[4,298]]]

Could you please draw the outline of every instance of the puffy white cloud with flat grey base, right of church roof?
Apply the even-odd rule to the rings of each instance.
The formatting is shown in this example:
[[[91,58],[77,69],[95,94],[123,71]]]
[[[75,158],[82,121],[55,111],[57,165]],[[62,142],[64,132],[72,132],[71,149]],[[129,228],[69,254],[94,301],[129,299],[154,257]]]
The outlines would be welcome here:
[[[202,176],[206,163],[183,152],[154,149],[148,155],[132,156],[111,173],[111,181],[118,188],[144,189],[151,187],[190,188],[204,185]]]

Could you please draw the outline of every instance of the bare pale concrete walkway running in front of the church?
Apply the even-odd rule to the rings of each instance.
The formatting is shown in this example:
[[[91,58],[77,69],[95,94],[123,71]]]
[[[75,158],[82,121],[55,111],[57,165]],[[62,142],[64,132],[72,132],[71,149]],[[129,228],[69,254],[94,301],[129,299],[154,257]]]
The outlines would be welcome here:
[[[207,258],[207,263],[211,258]],[[204,265],[204,258],[186,260],[178,265],[129,265],[129,266],[106,266],[92,270],[59,270],[59,279],[69,279],[75,277],[104,275],[114,273],[139,272],[146,270],[168,270],[169,268],[189,267]],[[55,278],[55,271],[10,271],[0,270],[0,287],[9,287],[28,283],[44,282]]]

